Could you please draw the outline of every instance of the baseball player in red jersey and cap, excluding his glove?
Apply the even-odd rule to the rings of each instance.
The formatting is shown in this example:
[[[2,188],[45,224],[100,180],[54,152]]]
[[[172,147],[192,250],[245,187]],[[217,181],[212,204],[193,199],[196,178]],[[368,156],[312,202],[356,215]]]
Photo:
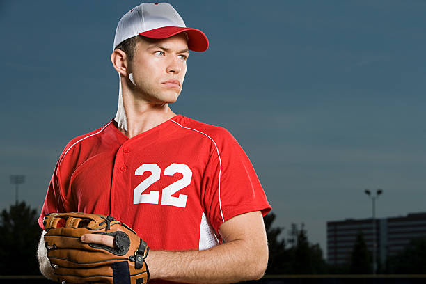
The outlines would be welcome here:
[[[168,3],[142,3],[120,19],[111,54],[116,118],[65,147],[40,227],[49,212],[116,217],[150,246],[152,282],[234,283],[265,273],[262,215],[271,207],[248,157],[226,129],[168,106],[182,90],[189,49],[207,47]],[[81,241],[113,246],[107,236]],[[43,237],[38,259],[53,278]]]

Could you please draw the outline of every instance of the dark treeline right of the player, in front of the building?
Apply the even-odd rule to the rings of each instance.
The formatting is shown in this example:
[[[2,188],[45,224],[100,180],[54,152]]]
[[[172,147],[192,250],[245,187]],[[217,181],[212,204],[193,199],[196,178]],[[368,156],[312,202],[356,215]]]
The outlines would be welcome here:
[[[329,265],[319,244],[308,242],[308,232],[292,223],[288,237],[279,238],[283,228],[274,228],[274,213],[265,216],[269,242],[269,265],[266,274],[371,274],[372,255],[360,232],[346,265]],[[379,262],[379,261],[378,261]],[[377,263],[377,274],[426,274],[426,237],[412,239],[409,245],[386,265]]]

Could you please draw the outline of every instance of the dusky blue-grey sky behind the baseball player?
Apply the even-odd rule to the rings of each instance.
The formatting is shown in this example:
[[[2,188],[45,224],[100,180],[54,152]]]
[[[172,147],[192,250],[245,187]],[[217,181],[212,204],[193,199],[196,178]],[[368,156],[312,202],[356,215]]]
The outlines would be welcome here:
[[[175,113],[226,127],[250,157],[275,226],[426,212],[426,1],[169,1],[210,40],[191,52]],[[1,1],[0,209],[40,210],[75,136],[116,114],[110,55],[141,1]],[[287,233],[284,235],[287,237]]]

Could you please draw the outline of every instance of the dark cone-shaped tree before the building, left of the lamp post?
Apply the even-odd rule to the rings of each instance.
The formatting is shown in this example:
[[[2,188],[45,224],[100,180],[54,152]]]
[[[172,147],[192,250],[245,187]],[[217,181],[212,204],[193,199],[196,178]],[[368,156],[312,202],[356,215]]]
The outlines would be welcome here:
[[[349,273],[370,274],[372,272],[370,253],[365,244],[363,232],[358,232],[354,248],[352,249]]]

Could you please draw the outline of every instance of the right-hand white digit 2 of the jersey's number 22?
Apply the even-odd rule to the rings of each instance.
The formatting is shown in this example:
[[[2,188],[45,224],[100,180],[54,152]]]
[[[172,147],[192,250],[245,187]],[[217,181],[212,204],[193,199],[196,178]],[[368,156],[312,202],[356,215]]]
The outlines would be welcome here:
[[[161,204],[171,205],[176,207],[184,208],[187,206],[188,196],[184,194],[179,194],[179,197],[172,196],[176,192],[180,191],[184,187],[187,187],[191,183],[192,172],[189,169],[189,166],[182,164],[171,164],[164,170],[164,175],[175,175],[175,173],[182,173],[183,178],[173,182],[168,187],[164,188],[161,193]]]

